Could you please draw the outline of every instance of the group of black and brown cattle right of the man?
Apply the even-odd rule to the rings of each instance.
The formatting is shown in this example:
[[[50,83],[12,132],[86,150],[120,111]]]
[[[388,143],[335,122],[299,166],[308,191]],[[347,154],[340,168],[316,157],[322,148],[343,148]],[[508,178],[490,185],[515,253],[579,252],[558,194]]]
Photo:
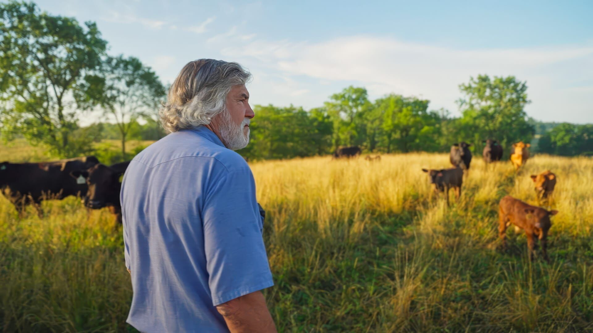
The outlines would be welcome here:
[[[486,144],[482,152],[486,167],[493,162],[502,160],[503,148],[496,140],[485,140]],[[466,142],[454,143],[449,153],[449,162],[453,168],[447,169],[422,169],[428,173],[429,180],[433,190],[437,193],[444,193],[449,206],[449,190],[453,189],[456,200],[461,197],[461,187],[463,185],[464,175],[467,174],[471,164],[471,145]],[[518,171],[529,158],[529,143],[518,142],[512,145],[511,163]],[[333,158],[353,158],[360,155],[361,149],[358,147],[344,147],[336,149]],[[366,156],[367,161],[379,160],[377,155],[374,158]],[[556,186],[556,175],[549,171],[543,171],[538,175],[531,175],[531,180],[535,183],[535,193],[540,206],[550,204],[551,196]],[[511,196],[505,196],[500,200],[499,215],[499,237],[502,239],[503,246],[506,246],[506,228],[515,225],[515,229],[523,229],[527,236],[527,245],[530,250],[530,259],[533,260],[536,243],[541,243],[541,252],[545,260],[549,260],[547,255],[547,234],[551,226],[550,216],[556,215],[557,210],[547,210],[543,207],[532,206],[524,201]]]

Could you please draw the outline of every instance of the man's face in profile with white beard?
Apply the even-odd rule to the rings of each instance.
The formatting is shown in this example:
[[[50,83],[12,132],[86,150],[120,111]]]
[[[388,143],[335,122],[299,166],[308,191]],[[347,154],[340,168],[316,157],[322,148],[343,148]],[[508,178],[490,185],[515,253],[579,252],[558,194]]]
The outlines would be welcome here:
[[[249,92],[245,85],[235,85],[227,95],[227,110],[218,114],[211,123],[222,143],[232,150],[245,148],[249,142],[249,123],[255,114],[249,105]]]

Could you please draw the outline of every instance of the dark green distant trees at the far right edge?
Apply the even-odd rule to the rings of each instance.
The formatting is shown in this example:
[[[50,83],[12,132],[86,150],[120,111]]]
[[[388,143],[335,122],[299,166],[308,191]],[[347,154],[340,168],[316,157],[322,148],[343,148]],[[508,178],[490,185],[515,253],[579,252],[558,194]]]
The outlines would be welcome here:
[[[560,156],[593,156],[593,125],[562,123],[540,137],[538,151]]]

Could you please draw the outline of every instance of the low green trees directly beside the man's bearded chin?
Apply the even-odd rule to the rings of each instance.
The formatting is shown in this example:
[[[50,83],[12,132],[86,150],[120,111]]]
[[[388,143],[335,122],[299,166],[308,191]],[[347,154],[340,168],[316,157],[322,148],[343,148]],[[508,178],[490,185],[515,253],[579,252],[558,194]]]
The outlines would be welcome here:
[[[282,159],[327,153],[331,120],[322,109],[256,105],[250,143],[240,153],[249,159]]]

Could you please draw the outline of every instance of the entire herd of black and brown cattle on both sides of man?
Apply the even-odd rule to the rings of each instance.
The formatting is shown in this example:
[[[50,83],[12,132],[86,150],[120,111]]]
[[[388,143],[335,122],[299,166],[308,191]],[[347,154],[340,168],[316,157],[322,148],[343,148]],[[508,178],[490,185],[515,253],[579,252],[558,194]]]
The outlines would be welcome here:
[[[486,140],[483,158],[486,165],[499,162],[503,149],[496,140]],[[422,169],[428,173],[435,192],[444,193],[449,206],[449,190],[453,189],[457,200],[461,197],[464,175],[467,177],[471,164],[471,145],[466,142],[451,146],[449,161],[453,168]],[[530,145],[523,142],[515,143],[511,153],[511,162],[519,169],[529,158]],[[333,158],[353,158],[361,155],[359,147],[343,147],[336,149]],[[366,156],[367,161],[380,161],[381,156]],[[14,204],[20,216],[27,205],[33,205],[40,217],[43,217],[42,200],[62,199],[68,196],[82,198],[84,206],[89,209],[107,207],[118,222],[122,222],[119,193],[121,177],[130,161],[113,164],[101,164],[94,156],[65,159],[42,163],[0,162],[0,189],[2,194]],[[556,185],[556,175],[547,170],[538,175],[531,175],[535,183],[537,199],[542,204],[549,204]],[[506,228],[512,224],[521,228],[527,235],[530,258],[533,259],[535,243],[541,242],[543,257],[547,257],[547,233],[550,229],[550,216],[557,210],[546,210],[531,206],[511,196],[505,196],[499,204],[499,236],[505,243]],[[536,238],[537,237],[537,238]]]

